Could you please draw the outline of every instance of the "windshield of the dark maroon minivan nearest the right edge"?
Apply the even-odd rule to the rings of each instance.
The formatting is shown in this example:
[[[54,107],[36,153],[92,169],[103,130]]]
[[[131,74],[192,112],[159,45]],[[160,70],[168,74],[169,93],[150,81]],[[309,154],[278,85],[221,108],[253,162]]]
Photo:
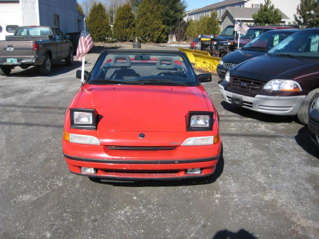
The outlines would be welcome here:
[[[319,58],[319,30],[304,30],[291,35],[269,51],[271,54]]]

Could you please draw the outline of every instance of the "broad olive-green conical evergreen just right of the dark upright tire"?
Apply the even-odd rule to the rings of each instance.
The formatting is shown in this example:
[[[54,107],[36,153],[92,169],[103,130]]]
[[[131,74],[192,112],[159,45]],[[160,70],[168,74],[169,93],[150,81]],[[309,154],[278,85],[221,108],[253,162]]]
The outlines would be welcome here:
[[[147,42],[164,42],[165,25],[158,0],[143,0],[136,21],[137,36]]]

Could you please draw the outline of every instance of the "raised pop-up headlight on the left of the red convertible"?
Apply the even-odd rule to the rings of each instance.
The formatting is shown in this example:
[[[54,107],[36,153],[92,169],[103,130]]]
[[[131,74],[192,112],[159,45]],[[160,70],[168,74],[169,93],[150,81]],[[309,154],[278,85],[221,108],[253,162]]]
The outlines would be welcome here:
[[[70,109],[71,128],[96,129],[97,114],[94,109]]]

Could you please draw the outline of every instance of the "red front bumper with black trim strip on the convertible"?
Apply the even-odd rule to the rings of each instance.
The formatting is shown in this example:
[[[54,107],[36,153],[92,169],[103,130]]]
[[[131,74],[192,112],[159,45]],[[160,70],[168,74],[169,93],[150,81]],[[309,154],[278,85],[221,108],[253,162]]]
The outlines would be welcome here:
[[[64,158],[72,173],[114,180],[208,176],[215,171],[220,148],[220,140],[213,145],[177,146],[159,151],[108,150],[104,145],[87,146],[63,140]],[[96,173],[82,174],[81,167],[95,168]],[[200,168],[201,173],[187,174],[186,170],[192,168]]]

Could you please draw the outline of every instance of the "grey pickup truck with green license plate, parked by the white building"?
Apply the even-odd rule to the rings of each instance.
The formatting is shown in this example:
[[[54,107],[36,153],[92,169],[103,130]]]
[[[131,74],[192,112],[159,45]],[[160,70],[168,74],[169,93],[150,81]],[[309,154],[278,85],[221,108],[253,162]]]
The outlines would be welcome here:
[[[20,66],[39,67],[42,75],[49,75],[53,61],[65,60],[73,64],[73,46],[70,37],[57,27],[21,26],[13,36],[0,41],[0,75],[8,76],[11,69]]]

